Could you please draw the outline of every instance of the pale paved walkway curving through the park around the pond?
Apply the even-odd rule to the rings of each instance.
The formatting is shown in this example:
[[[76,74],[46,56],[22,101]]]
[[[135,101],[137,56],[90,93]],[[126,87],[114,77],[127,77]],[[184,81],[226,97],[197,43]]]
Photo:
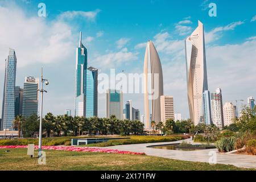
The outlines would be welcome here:
[[[191,139],[185,141],[192,143]],[[209,162],[209,152],[216,151],[217,149],[210,150],[197,150],[197,151],[179,151],[179,150],[164,150],[156,148],[148,148],[147,146],[175,144],[181,143],[182,140],[176,142],[160,142],[160,143],[143,143],[143,144],[129,144],[121,146],[111,146],[112,148],[123,151],[144,152],[146,155],[158,156],[168,159],[187,160],[192,162]],[[218,164],[231,164],[237,167],[255,168],[256,169],[256,156],[241,155],[241,154],[222,154],[217,152]]]

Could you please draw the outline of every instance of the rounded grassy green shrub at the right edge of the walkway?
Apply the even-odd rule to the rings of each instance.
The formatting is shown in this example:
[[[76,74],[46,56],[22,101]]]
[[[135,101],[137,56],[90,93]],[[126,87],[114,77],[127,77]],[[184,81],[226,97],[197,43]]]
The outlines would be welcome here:
[[[235,149],[236,137],[222,137],[215,143],[219,152],[230,152]]]

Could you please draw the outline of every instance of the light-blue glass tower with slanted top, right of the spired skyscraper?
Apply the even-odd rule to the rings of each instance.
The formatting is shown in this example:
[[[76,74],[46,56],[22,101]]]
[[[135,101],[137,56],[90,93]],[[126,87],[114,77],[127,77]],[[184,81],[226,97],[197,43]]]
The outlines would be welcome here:
[[[86,73],[86,118],[98,116],[98,69],[89,67]]]

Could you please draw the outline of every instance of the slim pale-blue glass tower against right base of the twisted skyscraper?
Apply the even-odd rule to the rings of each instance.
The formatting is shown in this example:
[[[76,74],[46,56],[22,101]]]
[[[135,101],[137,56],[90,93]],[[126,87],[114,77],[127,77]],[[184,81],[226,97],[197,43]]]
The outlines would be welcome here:
[[[205,125],[212,125],[212,113],[210,109],[210,92],[205,90],[203,93],[204,102],[204,123]]]

